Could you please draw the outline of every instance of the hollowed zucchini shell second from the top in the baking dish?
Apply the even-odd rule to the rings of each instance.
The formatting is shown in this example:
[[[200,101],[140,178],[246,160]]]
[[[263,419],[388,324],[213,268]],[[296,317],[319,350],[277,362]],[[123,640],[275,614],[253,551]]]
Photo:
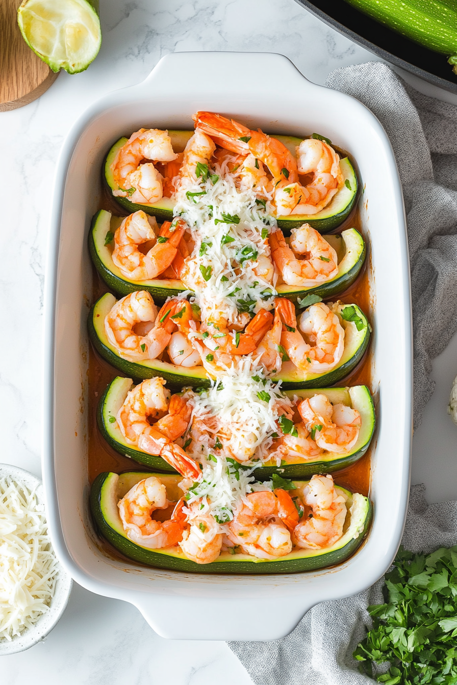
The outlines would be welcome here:
[[[186,290],[184,284],[177,279],[155,278],[150,281],[131,281],[122,275],[118,267],[112,261],[114,242],[112,235],[116,228],[121,225],[122,216],[112,216],[110,212],[99,210],[92,219],[89,232],[89,251],[95,268],[110,290],[118,295],[128,295],[135,290],[147,290],[158,301],[164,301],[167,297],[175,297]],[[111,240],[110,240],[111,238]],[[365,242],[355,228],[349,228],[341,234],[328,236],[327,242],[336,250],[338,256],[338,273],[330,281],[319,284],[313,288],[301,286],[277,286],[277,294],[280,297],[288,297],[297,301],[305,295],[319,295],[319,297],[332,297],[351,286],[360,273],[365,263]]]

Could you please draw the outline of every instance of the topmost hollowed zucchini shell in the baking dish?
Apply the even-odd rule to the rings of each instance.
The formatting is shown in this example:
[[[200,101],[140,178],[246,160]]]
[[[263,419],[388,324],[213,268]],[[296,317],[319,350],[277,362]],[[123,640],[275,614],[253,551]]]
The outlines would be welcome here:
[[[171,145],[175,152],[182,152],[186,143],[193,131],[169,131],[171,138]],[[295,156],[295,148],[301,143],[303,138],[295,138],[295,136],[273,136],[284,143],[284,145]],[[125,145],[128,138],[119,138],[116,140],[108,155],[106,156],[104,172],[105,180],[110,191],[119,190],[119,186],[114,182],[114,177],[111,171],[111,164],[120,147]],[[328,233],[341,225],[349,216],[356,203],[356,196],[358,190],[358,180],[354,167],[349,158],[345,157],[340,160],[340,169],[343,173],[343,187],[338,190],[332,201],[321,212],[311,215],[292,214],[291,216],[281,216],[277,219],[277,225],[284,231],[288,232],[292,228],[301,226],[304,223],[309,223],[313,228],[321,233]],[[157,216],[158,219],[171,221],[173,218],[174,201],[169,197],[162,197],[156,203],[142,203],[137,204],[129,201],[127,197],[114,197],[129,214],[143,210],[146,214]]]

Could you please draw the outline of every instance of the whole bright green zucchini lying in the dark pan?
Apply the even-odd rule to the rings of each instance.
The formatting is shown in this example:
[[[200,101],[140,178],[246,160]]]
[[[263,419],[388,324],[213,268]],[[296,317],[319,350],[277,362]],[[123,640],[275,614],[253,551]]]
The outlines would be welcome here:
[[[389,29],[448,55],[457,73],[457,0],[346,0]]]

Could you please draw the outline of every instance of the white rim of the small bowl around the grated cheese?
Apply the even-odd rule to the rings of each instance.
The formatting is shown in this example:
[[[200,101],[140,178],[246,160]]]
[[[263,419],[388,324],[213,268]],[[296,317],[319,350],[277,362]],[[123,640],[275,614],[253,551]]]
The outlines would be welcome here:
[[[36,475],[18,469],[17,466],[10,464],[0,464],[0,478],[10,476],[16,483],[23,483],[27,488],[36,487],[36,497],[40,504],[45,502],[42,482]],[[53,627],[58,623],[60,616],[66,609],[71,595],[71,588],[73,587],[73,580],[69,573],[66,573],[63,566],[58,562],[59,577],[55,584],[55,593],[51,599],[51,606],[49,611],[42,614],[40,619],[35,623],[34,627],[26,628],[25,631],[11,641],[5,638],[0,638],[0,656],[3,654],[14,654],[18,651],[24,651],[33,647],[51,632]]]

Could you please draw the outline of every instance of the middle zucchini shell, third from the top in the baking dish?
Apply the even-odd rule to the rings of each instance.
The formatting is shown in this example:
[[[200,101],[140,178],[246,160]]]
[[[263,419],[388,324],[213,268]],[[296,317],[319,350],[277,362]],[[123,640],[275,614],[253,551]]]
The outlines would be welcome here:
[[[134,379],[152,378],[161,376],[171,386],[203,387],[209,388],[211,381],[203,366],[194,366],[186,369],[184,366],[175,366],[170,362],[162,362],[159,359],[148,359],[142,362],[130,362],[119,356],[118,351],[111,345],[106,336],[105,318],[114,306],[116,298],[110,292],[102,295],[95,305],[91,308],[88,316],[88,333],[92,345],[104,360],[119,369],[126,376]],[[338,307],[341,312],[347,305],[342,304]],[[274,381],[282,381],[282,389],[289,388],[325,388],[334,385],[336,382],[345,378],[358,362],[362,359],[368,347],[370,339],[370,325],[365,314],[354,307],[355,315],[358,317],[360,330],[351,321],[341,321],[345,329],[345,348],[343,356],[338,364],[327,373],[306,373],[297,369],[292,362],[283,362],[280,373],[273,377]]]

